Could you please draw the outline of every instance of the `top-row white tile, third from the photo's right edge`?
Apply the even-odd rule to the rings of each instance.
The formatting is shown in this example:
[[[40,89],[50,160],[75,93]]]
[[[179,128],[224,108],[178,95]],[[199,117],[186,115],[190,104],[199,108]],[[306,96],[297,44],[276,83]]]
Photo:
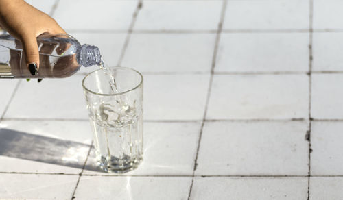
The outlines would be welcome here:
[[[134,29],[217,29],[222,1],[143,1]]]

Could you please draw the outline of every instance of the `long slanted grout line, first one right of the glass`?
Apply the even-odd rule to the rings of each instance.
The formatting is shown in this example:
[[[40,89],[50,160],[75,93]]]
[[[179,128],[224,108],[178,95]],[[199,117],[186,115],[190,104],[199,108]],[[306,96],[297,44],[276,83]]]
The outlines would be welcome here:
[[[205,124],[205,120],[206,120],[207,109],[209,106],[209,99],[211,96],[211,88],[212,88],[212,84],[213,84],[214,68],[215,68],[215,64],[216,64],[216,60],[217,60],[217,51],[219,49],[220,34],[222,34],[222,28],[223,28],[224,17],[225,17],[225,12],[226,12],[226,3],[227,3],[227,0],[224,0],[222,3],[222,10],[220,13],[220,22],[218,24],[217,35],[215,38],[215,45],[214,45],[214,49],[213,49],[212,64],[211,64],[211,75],[210,75],[210,79],[209,79],[209,88],[207,90],[207,97],[206,97],[206,103],[205,103],[205,108],[204,108],[204,116],[202,118],[202,124],[201,124],[200,134],[199,134],[199,138],[198,138],[198,147],[196,149],[196,158],[194,159],[194,168],[193,168],[193,173],[192,173],[191,186],[189,187],[189,193],[188,193],[188,198],[187,198],[188,200],[191,199],[191,192],[192,192],[193,183],[194,183],[194,175],[196,173],[196,168],[198,166],[197,162],[198,162],[198,155],[199,155],[199,149],[200,149],[200,142],[201,142],[201,138],[202,138],[202,132],[204,130],[204,124]]]

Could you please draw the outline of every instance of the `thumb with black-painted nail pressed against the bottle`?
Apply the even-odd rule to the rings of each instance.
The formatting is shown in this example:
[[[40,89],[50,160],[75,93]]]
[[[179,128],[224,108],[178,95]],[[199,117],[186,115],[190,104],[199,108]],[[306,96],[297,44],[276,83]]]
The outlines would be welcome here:
[[[38,73],[39,68],[39,53],[36,36],[25,36],[21,38],[23,44],[23,51],[25,53],[27,68],[32,75]]]

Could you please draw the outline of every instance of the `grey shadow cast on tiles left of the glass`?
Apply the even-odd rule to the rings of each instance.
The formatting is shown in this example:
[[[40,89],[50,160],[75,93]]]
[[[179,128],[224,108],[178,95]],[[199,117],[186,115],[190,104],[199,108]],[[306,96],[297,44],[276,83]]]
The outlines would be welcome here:
[[[0,129],[0,155],[11,158],[83,168],[89,148],[80,142]],[[87,169],[100,171],[95,164]]]

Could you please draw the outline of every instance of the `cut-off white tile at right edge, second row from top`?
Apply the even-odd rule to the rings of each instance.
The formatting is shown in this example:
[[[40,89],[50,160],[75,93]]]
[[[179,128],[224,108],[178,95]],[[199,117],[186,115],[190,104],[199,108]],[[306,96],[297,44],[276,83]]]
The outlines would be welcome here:
[[[343,33],[313,34],[313,71],[343,71]]]

